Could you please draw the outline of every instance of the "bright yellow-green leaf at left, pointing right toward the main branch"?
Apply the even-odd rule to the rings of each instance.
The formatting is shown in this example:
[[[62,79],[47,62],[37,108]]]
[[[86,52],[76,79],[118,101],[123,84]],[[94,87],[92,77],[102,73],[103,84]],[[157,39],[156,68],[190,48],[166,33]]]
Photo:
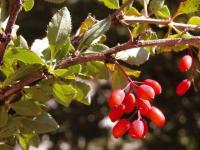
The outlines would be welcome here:
[[[6,59],[6,61],[11,61],[11,63],[15,60],[19,60],[27,64],[45,64],[39,56],[24,48],[8,48],[4,55],[4,59]]]

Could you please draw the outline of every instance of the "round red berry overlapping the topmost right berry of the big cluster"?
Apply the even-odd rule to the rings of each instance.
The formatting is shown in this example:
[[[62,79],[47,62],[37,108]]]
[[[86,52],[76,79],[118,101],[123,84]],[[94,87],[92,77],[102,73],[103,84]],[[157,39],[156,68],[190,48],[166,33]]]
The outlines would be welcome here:
[[[155,92],[149,85],[140,85],[136,90],[137,97],[143,100],[152,100],[155,97]]]

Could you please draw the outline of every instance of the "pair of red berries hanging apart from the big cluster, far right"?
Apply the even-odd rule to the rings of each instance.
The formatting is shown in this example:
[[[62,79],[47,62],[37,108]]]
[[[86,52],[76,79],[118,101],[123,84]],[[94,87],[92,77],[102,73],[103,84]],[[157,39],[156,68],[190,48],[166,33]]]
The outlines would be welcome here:
[[[192,67],[192,57],[190,55],[184,55],[180,61],[178,68],[181,72],[187,72]],[[184,95],[190,88],[191,81],[189,79],[184,79],[181,81],[177,88],[176,93],[181,96]]]

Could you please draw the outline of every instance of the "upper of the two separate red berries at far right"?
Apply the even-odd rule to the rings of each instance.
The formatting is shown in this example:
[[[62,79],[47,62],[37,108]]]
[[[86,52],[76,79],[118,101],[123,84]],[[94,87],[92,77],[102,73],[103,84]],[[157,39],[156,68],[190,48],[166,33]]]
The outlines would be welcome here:
[[[192,57],[190,55],[183,56],[180,61],[178,68],[181,72],[188,71],[192,66]]]

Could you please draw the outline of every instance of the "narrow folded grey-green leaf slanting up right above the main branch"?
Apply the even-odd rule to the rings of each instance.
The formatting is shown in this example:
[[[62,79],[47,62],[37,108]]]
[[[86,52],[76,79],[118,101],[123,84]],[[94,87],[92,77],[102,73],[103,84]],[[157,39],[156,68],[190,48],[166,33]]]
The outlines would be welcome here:
[[[104,34],[111,25],[110,19],[104,19],[94,24],[83,36],[79,45],[79,50],[88,48],[92,42]]]

